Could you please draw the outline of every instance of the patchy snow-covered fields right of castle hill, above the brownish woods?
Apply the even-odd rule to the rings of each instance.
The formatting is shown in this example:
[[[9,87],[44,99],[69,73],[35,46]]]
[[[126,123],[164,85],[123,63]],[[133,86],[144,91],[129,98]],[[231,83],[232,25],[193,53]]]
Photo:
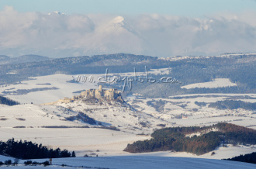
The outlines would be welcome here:
[[[256,129],[256,114],[252,110],[244,109],[213,109],[209,108],[210,102],[223,101],[230,97],[253,97],[256,94],[193,94],[177,95],[170,98],[147,98],[135,99],[133,96],[128,97],[130,105],[137,105],[137,110],[145,112],[155,118],[165,121],[164,124],[175,124],[174,126],[209,126],[216,122],[231,122],[240,126],[250,126]],[[175,98],[176,97],[176,98]],[[243,98],[243,97],[242,97]],[[244,99],[244,102],[256,102],[256,99]],[[161,112],[157,112],[154,105],[148,105],[147,102],[164,102]],[[195,102],[205,102],[205,106],[196,105]],[[178,118],[179,116],[179,118]],[[182,119],[187,116],[188,119]]]

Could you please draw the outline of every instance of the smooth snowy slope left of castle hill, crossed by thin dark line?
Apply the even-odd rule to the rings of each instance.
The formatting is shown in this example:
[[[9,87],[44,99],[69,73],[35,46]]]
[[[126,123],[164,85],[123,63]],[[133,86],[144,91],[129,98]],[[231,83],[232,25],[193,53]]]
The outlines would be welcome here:
[[[88,150],[92,152],[100,150],[99,154],[125,153],[123,149],[128,143],[149,138],[149,136],[136,136],[109,129],[78,128],[94,126],[67,121],[64,116],[55,113],[60,110],[55,106],[0,105],[0,107],[0,140],[2,141],[13,137],[15,140],[29,140],[45,146],[76,150],[84,155]],[[55,112],[52,112],[53,110]]]

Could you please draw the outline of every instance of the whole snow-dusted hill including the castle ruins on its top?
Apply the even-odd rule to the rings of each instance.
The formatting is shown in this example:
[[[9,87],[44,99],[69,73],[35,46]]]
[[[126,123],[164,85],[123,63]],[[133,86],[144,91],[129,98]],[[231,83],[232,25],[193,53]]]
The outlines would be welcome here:
[[[78,123],[90,121],[89,124],[96,125],[95,127],[119,129],[127,133],[151,133],[161,126],[172,126],[171,122],[134,109],[123,100],[120,91],[102,89],[102,86],[99,89],[81,91],[81,95],[72,98],[44,105],[57,106],[57,109],[53,106],[50,112],[67,120]],[[92,119],[95,122],[92,122]]]

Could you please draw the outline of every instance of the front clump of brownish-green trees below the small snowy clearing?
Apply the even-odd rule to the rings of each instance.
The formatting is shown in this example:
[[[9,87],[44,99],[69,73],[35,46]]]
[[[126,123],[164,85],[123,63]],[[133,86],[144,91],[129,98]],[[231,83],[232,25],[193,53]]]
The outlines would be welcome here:
[[[154,132],[155,133],[155,132]],[[221,133],[209,132],[203,136],[186,137],[183,133],[169,133],[164,135],[157,133],[153,139],[137,141],[128,144],[125,151],[130,153],[143,153],[160,150],[174,150],[195,153],[197,155],[214,150],[221,143]],[[151,135],[152,136],[152,135]]]

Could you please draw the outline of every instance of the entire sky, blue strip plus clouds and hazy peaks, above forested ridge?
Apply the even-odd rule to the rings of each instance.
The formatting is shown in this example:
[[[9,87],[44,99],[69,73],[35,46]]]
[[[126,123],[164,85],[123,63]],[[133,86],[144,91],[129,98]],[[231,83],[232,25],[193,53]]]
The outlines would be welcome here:
[[[256,52],[256,1],[0,0],[0,55],[227,52]]]

